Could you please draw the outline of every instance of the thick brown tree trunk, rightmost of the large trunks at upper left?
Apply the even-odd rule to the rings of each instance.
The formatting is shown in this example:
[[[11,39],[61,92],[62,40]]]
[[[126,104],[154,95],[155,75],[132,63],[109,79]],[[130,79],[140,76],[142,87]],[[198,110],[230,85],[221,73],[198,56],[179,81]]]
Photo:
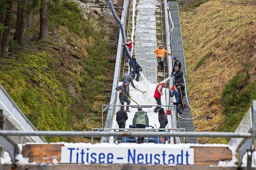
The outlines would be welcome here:
[[[42,6],[40,8],[40,39],[46,39],[48,37],[48,22],[47,22],[47,2],[42,0]]]

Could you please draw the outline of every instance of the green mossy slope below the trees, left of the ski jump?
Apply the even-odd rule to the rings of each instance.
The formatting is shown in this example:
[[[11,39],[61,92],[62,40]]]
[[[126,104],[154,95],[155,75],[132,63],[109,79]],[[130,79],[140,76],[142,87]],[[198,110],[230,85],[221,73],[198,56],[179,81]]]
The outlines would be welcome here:
[[[54,37],[46,41],[33,41],[32,37],[23,51],[11,41],[13,53],[9,58],[0,58],[0,83],[38,130],[82,131],[101,125],[100,106],[105,103],[94,99],[103,94],[107,69],[112,69],[104,57],[116,51],[105,36],[109,25],[93,12],[85,20],[76,4],[64,3],[63,13],[55,17],[66,13],[61,23],[65,26],[59,25]],[[34,24],[38,25],[36,18]],[[31,30],[30,35],[38,35],[36,27]]]

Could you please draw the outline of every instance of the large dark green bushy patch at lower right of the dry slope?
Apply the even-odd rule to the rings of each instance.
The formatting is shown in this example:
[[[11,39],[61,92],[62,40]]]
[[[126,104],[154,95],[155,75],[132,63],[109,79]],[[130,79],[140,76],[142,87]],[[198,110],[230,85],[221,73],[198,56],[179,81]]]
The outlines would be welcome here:
[[[256,81],[250,82],[248,71],[239,72],[225,85],[222,90],[222,106],[226,122],[220,131],[234,132],[245,113],[256,99]]]

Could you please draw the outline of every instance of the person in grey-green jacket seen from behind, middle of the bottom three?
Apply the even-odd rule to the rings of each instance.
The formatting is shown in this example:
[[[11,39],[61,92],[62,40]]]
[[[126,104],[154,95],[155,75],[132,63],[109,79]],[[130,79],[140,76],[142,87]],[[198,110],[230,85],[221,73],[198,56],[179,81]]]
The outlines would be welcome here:
[[[138,111],[135,113],[132,125],[136,125],[136,128],[145,129],[148,126],[148,115],[147,112],[142,110],[141,106],[138,106]],[[138,137],[138,143],[143,143],[144,138]]]

